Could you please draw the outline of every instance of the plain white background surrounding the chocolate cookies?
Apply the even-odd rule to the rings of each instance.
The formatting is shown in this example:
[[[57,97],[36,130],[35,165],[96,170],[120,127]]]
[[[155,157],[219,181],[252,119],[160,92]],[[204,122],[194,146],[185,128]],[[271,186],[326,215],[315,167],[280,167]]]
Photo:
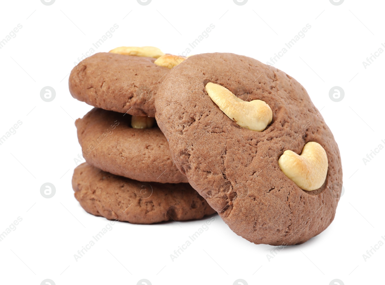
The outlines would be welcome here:
[[[29,0],[1,6],[0,39],[18,24],[22,29],[0,49],[0,136],[18,120],[22,125],[0,145],[0,232],[19,216],[22,221],[0,242],[0,283],[39,285],[49,278],[57,285],[137,284],[146,278],[153,285],[231,285],[241,278],[248,284],[328,285],[338,278],[347,285],[380,277],[385,246],[366,261],[363,254],[385,236],[385,150],[366,165],[363,158],[385,146],[385,53],[366,69],[362,62],[385,44],[383,1],[152,0],[144,6],[136,0],[56,0],[47,6]],[[74,119],[92,107],[71,97],[68,75],[114,24],[119,28],[97,52],[157,46],[181,54],[214,24],[190,54],[234,52],[262,62],[310,24],[275,66],[303,84],[340,147],[345,193],[333,223],[268,260],[272,246],[249,243],[214,215],[208,231],[174,261],[170,254],[209,217],[115,223],[75,261],[74,254],[108,221],[87,214],[74,198],[71,177],[81,153]],[[40,98],[44,86],[55,89],[53,101]],[[329,98],[333,86],[345,91],[342,101]],[[45,182],[56,188],[50,199],[40,194]]]

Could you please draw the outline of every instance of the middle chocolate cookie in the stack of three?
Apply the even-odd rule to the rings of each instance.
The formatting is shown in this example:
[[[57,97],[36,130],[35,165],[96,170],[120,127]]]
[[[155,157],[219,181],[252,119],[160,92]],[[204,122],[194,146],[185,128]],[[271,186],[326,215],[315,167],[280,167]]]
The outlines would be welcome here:
[[[147,117],[140,117],[147,118]],[[139,181],[187,182],[171,159],[161,130],[131,127],[131,115],[94,108],[77,119],[85,160],[104,171]]]

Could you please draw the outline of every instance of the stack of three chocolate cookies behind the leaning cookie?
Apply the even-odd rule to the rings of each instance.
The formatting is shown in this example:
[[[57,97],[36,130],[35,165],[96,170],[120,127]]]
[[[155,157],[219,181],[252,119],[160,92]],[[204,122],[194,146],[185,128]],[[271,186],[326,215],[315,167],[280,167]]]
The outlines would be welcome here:
[[[140,224],[215,212],[174,165],[154,119],[157,89],[183,60],[153,47],[121,47],[72,69],[70,93],[96,107],[75,122],[86,162],[72,186],[85,211]]]

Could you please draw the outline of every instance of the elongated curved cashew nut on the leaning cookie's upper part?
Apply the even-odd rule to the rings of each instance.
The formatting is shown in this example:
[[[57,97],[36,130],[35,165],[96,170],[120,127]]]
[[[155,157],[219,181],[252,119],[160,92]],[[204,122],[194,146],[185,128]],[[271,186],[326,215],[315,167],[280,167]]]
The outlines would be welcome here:
[[[211,82],[205,89],[219,109],[242,128],[262,132],[273,119],[273,112],[264,101],[243,101],[229,89]]]

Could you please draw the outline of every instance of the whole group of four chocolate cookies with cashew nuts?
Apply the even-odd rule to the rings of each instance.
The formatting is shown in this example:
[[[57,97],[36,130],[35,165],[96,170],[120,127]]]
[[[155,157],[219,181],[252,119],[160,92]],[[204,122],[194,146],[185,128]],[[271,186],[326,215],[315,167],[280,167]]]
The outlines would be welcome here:
[[[88,164],[73,187],[86,211],[131,223],[216,211],[270,245],[303,243],[333,221],[340,152],[283,71],[237,54],[121,47],[80,62],[69,86],[98,107],[76,121]]]

